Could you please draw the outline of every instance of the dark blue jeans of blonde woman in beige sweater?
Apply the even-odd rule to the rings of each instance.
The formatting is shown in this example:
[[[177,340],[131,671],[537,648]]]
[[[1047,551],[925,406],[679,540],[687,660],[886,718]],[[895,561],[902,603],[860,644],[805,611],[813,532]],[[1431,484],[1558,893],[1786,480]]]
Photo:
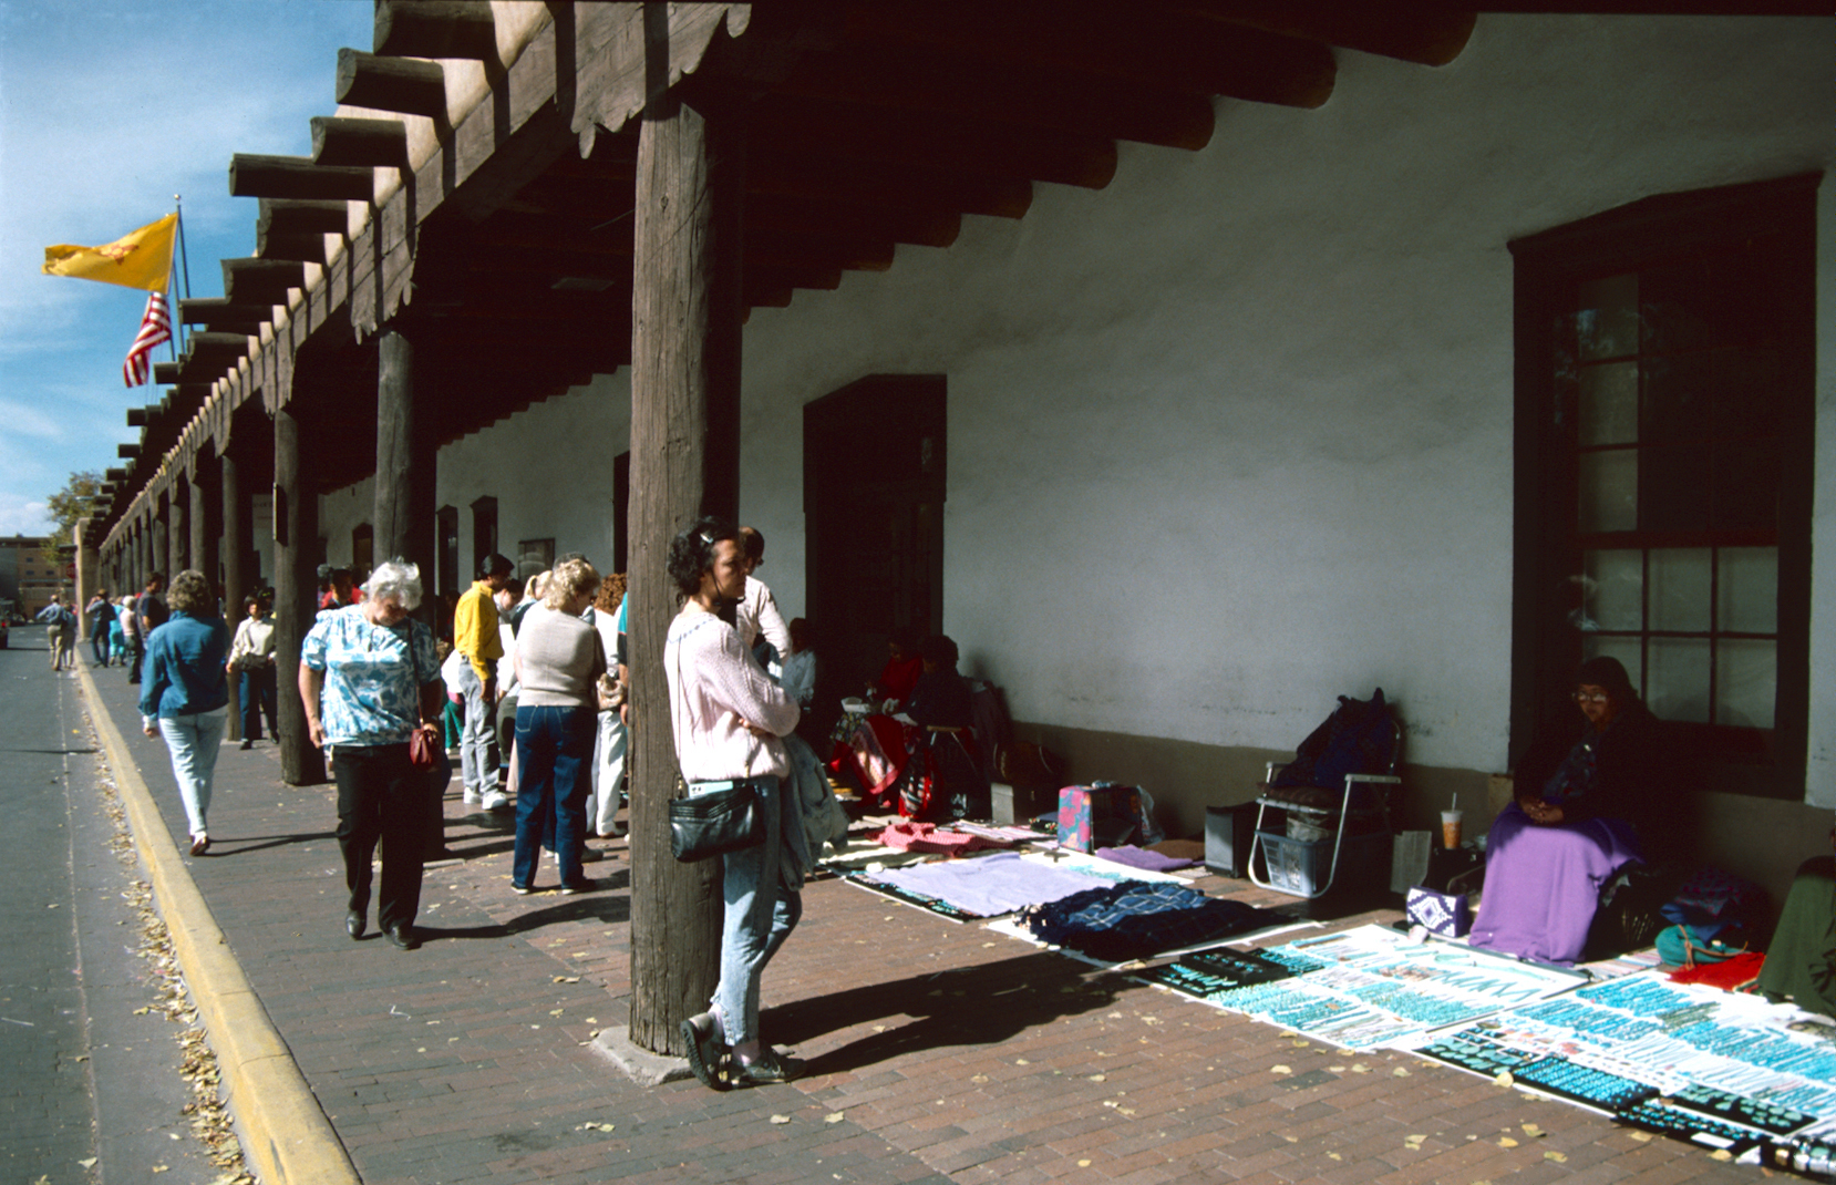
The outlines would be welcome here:
[[[531,887],[542,862],[542,840],[553,830],[562,884],[580,884],[586,843],[586,796],[593,788],[591,707],[516,705],[516,860],[510,884]]]

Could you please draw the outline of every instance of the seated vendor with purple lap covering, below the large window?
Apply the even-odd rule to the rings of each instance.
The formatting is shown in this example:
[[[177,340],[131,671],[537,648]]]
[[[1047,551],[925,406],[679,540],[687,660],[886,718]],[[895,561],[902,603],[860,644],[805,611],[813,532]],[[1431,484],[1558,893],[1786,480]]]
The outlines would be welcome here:
[[[1665,773],[1662,722],[1616,658],[1581,665],[1573,702],[1579,737],[1559,761],[1559,742],[1533,746],[1520,766],[1517,801],[1491,825],[1485,891],[1469,939],[1474,946],[1575,963],[1601,884],[1667,847],[1662,819],[1676,784]]]

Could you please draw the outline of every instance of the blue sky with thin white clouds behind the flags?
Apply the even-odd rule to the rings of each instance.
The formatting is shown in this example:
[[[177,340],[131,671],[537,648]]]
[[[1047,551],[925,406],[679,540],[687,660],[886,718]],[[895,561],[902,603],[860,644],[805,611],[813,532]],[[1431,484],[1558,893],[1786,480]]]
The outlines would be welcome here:
[[[184,195],[191,294],[255,250],[230,156],[312,151],[338,48],[369,50],[369,0],[0,0],[0,535],[50,529],[44,500],[116,465],[121,384],[145,292],[42,276],[53,243],[95,246]],[[174,309],[176,312],[176,309]],[[171,355],[160,347],[156,360]]]

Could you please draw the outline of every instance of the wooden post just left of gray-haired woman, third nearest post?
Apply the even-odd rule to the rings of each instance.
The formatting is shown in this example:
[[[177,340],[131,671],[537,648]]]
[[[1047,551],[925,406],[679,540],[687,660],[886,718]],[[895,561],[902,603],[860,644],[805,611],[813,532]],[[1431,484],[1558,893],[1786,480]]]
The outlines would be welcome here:
[[[318,610],[319,492],[301,470],[303,430],[292,404],[274,413],[274,665],[279,683],[281,781],[312,786],[325,781],[325,755],[307,735],[299,702],[299,643]]]

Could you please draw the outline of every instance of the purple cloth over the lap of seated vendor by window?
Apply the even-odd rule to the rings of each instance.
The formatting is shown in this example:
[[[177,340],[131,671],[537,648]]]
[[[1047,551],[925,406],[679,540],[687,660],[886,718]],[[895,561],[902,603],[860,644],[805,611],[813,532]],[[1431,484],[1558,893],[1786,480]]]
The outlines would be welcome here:
[[[1485,893],[1467,941],[1566,966],[1586,946],[1601,884],[1638,858],[1619,819],[1539,827],[1511,803],[1485,838]]]

